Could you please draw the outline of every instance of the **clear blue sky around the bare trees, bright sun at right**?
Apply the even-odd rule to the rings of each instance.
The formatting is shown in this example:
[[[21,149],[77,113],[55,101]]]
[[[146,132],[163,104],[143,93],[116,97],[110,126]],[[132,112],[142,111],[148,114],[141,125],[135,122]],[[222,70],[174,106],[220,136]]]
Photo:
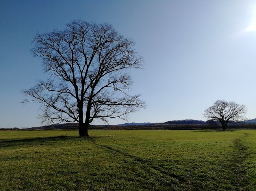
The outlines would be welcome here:
[[[31,41],[74,19],[113,24],[144,57],[131,93],[147,109],[128,122],[203,120],[219,99],[245,104],[256,118],[256,1],[0,0],[0,127],[41,125],[39,106],[20,103],[21,89],[47,77]]]

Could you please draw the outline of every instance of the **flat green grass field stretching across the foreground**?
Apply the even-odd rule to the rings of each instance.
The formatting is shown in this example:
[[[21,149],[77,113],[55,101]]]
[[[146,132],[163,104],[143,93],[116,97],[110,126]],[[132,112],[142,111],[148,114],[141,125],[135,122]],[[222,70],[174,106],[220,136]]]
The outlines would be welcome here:
[[[256,190],[256,130],[0,131],[0,190]]]

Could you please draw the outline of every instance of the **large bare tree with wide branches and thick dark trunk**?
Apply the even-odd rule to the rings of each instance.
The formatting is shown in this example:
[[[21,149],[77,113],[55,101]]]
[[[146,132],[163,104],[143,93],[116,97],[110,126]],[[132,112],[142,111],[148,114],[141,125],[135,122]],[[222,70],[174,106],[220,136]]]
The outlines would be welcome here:
[[[67,29],[37,34],[34,56],[43,60],[47,81],[24,90],[23,102],[41,104],[43,122],[78,122],[79,135],[88,135],[95,118],[122,118],[145,102],[128,95],[131,68],[142,67],[134,42],[117,33],[112,25],[75,20]]]

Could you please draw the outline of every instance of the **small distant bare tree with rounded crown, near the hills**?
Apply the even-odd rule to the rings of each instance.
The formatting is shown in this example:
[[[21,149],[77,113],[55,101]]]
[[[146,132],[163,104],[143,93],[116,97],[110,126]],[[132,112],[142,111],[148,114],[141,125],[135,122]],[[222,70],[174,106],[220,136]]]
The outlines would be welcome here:
[[[223,131],[225,131],[229,122],[241,122],[245,120],[246,112],[245,105],[217,100],[213,106],[208,107],[204,111],[204,117],[208,120],[219,121],[223,127]]]

